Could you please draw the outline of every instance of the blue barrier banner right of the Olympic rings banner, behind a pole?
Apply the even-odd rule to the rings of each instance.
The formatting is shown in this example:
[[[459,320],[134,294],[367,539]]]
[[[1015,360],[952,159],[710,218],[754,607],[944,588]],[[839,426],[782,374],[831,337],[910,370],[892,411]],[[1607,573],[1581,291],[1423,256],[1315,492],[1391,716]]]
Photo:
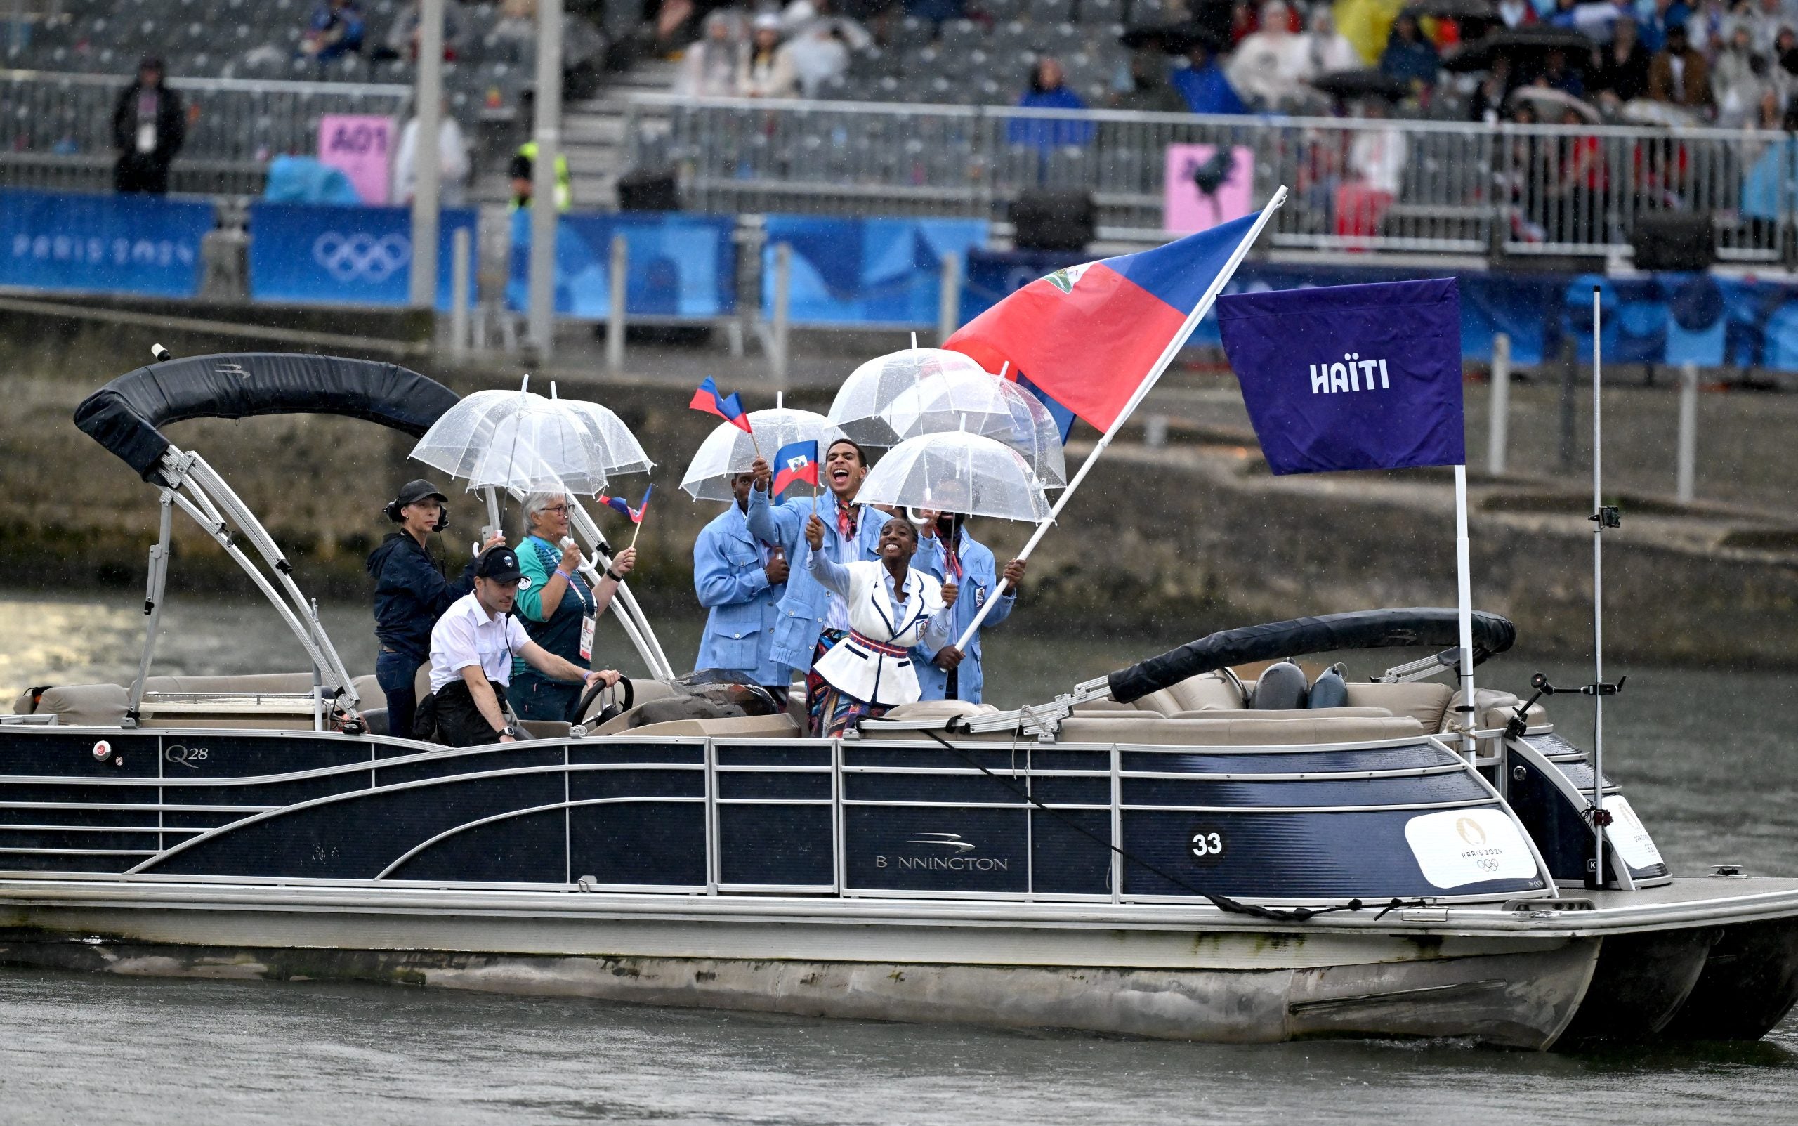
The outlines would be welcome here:
[[[624,311],[654,320],[712,320],[737,309],[735,216],[685,212],[565,214],[556,225],[556,311],[611,315],[611,237],[628,248]],[[512,212],[512,263],[505,304],[530,299],[530,212]]]

